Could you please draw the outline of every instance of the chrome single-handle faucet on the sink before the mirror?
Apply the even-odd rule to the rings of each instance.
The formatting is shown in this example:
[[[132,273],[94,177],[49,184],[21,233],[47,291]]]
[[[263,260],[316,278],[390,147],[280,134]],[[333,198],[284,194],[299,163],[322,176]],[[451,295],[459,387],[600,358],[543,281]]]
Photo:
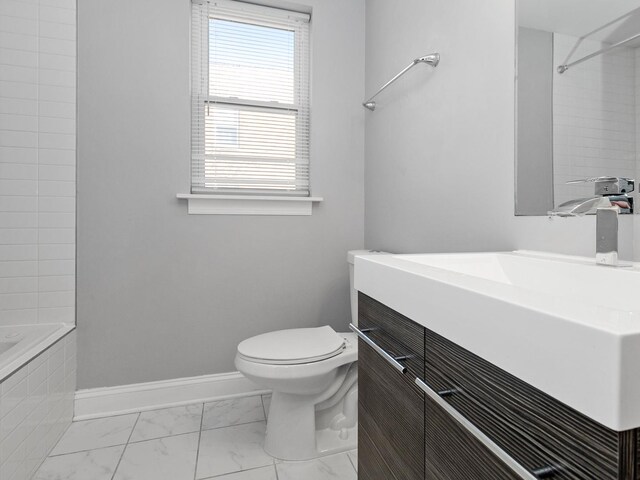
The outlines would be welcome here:
[[[633,213],[635,181],[629,178],[597,177],[574,180],[570,184],[592,182],[595,196],[570,200],[549,212],[559,217],[596,215],[596,263],[618,265],[618,214]]]

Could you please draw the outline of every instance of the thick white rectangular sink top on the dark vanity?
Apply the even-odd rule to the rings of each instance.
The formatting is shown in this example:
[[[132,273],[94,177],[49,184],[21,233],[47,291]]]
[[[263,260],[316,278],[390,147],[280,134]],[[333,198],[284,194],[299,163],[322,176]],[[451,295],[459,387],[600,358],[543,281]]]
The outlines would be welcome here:
[[[640,268],[537,252],[376,255],[355,287],[614,430],[640,427]]]

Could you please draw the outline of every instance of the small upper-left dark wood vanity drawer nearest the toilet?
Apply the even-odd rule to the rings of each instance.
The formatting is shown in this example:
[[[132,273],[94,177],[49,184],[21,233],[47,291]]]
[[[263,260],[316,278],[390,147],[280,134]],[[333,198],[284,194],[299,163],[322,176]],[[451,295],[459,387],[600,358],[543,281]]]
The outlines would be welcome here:
[[[363,293],[358,293],[358,326],[393,357],[407,357],[409,383],[424,373],[424,332],[422,325]]]

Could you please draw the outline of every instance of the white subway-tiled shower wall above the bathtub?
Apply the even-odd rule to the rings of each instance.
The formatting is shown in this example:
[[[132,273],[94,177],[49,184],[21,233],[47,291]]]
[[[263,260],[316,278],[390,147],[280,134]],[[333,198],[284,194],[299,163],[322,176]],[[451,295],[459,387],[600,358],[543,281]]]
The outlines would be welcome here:
[[[75,0],[0,0],[0,325],[75,321]]]

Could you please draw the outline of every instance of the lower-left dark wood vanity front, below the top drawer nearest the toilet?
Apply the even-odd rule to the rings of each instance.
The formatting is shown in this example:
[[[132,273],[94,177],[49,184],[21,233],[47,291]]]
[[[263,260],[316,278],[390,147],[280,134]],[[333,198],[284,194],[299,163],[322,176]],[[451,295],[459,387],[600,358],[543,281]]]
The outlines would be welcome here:
[[[362,340],[358,349],[358,421],[377,449],[360,446],[361,478],[381,478],[369,470],[381,460],[389,480],[424,480],[424,393]]]

